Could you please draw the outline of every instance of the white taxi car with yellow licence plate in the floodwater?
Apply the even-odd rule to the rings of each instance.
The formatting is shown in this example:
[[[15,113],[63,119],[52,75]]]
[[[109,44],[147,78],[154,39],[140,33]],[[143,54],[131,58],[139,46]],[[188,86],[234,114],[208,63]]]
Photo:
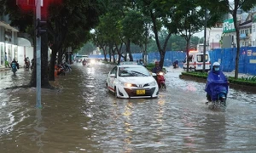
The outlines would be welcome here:
[[[107,75],[107,88],[117,98],[157,98],[159,88],[154,77],[143,66],[121,63]]]

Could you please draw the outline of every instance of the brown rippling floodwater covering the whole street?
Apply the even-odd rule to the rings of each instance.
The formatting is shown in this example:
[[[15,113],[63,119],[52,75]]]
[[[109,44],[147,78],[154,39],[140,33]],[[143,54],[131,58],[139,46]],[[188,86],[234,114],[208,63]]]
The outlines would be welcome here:
[[[230,89],[225,111],[207,108],[204,83],[179,79],[168,68],[158,99],[116,99],[106,91],[113,65],[73,65],[36,89],[29,71],[0,72],[0,152],[255,152],[256,94]]]

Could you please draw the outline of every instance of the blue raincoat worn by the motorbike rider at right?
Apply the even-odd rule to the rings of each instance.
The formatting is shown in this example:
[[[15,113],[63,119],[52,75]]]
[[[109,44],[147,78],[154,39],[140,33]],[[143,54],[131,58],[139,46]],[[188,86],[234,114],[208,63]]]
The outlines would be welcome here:
[[[218,94],[221,92],[228,94],[228,80],[222,71],[210,71],[208,73],[205,91],[211,96],[213,101],[218,99]]]

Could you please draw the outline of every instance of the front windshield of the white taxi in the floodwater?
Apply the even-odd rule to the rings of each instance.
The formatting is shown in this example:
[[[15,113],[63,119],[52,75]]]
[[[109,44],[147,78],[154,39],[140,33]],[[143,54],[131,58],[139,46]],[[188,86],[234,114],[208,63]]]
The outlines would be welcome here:
[[[143,66],[119,67],[119,77],[149,77],[149,71]]]

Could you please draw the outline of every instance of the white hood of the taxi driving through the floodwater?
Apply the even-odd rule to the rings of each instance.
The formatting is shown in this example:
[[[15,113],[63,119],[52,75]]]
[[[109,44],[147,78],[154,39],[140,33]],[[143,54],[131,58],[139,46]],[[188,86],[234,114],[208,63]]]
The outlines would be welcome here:
[[[136,84],[145,84],[148,82],[154,82],[154,77],[119,77],[121,82],[130,82]]]

